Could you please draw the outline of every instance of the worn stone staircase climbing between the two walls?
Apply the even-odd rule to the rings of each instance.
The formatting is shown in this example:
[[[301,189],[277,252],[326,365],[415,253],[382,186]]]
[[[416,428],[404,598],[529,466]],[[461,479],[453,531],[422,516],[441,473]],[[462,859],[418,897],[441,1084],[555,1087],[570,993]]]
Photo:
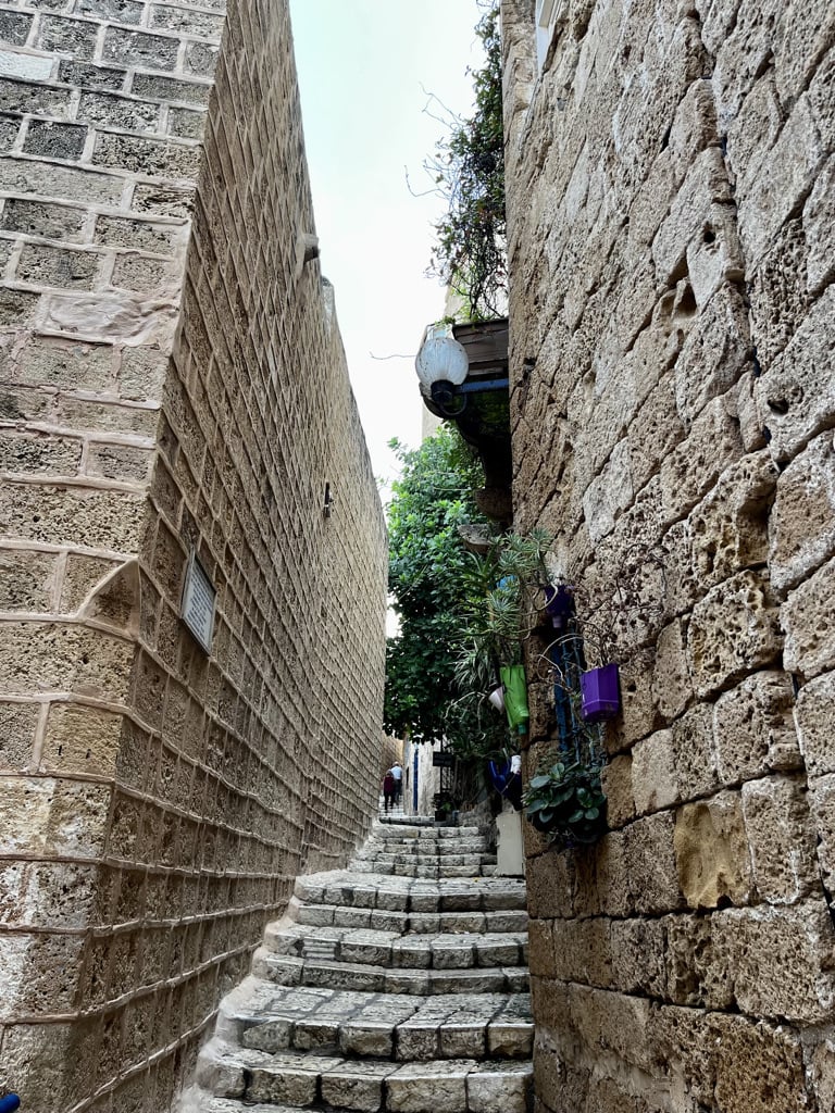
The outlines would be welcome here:
[[[527,1113],[524,883],[475,827],[381,821],[302,877],[222,1003],[183,1113]]]

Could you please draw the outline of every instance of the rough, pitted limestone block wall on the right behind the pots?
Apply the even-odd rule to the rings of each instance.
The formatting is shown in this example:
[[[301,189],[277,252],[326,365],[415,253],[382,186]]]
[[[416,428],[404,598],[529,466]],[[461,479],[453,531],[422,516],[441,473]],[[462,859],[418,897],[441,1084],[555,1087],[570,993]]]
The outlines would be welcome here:
[[[527,831],[538,1109],[824,1113],[833,7],[563,0],[541,73],[533,7],[502,4],[515,528],[637,584],[610,833]]]

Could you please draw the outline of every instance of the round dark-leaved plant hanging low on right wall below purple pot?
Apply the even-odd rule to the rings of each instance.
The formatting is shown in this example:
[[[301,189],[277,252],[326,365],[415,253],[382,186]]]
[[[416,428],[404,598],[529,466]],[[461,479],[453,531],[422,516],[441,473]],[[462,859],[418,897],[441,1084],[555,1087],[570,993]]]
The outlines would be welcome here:
[[[606,830],[606,796],[600,766],[560,756],[531,777],[524,814],[537,830],[552,838],[597,843]]]

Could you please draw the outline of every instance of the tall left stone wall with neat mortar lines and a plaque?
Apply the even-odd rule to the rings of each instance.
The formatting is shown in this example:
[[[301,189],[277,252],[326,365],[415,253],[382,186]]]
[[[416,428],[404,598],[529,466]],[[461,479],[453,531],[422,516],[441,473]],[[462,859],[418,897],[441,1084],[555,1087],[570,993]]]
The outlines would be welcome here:
[[[384,526],[304,262],[286,2],[0,30],[0,1086],[159,1113],[376,807]]]

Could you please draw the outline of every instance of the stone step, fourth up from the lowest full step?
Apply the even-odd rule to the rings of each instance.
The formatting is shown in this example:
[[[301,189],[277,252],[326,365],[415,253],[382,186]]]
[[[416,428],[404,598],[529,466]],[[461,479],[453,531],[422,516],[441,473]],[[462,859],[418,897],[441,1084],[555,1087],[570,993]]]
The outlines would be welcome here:
[[[519,966],[528,962],[528,935],[524,932],[401,935],[399,932],[320,927],[279,920],[266,928],[264,946],[278,955],[399,968]]]

